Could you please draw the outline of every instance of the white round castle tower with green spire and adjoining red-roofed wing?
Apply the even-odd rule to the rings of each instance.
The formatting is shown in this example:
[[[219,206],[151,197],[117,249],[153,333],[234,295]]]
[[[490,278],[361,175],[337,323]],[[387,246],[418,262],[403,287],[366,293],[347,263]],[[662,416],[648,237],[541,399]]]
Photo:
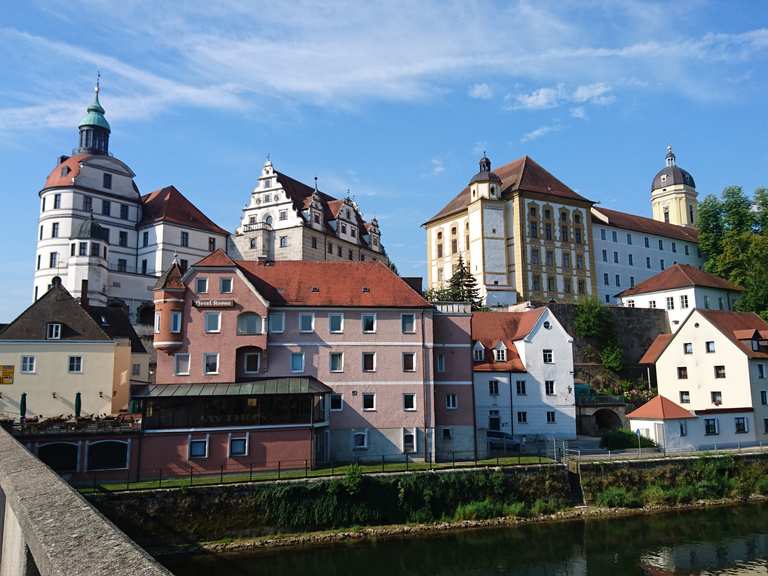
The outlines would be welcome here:
[[[39,193],[33,297],[55,278],[79,297],[87,280],[90,302],[123,303],[133,322],[146,305],[151,318],[156,277],[174,255],[192,264],[226,248],[228,233],[173,186],[141,195],[134,172],[109,151],[98,84],[79,130],[78,148],[58,159]]]

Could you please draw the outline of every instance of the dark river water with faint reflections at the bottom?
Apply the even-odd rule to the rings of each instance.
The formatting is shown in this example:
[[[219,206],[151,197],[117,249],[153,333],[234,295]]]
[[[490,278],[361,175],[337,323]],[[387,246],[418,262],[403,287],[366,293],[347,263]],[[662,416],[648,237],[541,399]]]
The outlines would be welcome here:
[[[164,562],[177,576],[768,576],[768,504]]]

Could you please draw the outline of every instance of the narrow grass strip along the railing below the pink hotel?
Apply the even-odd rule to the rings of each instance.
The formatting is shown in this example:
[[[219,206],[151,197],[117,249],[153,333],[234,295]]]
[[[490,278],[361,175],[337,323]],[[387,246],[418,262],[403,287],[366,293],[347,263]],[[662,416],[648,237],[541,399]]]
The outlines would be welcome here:
[[[390,462],[386,464],[381,463],[360,463],[358,468],[362,474],[375,474],[380,472],[406,472],[406,471],[424,471],[424,470],[448,470],[451,468],[472,468],[475,466],[517,466],[517,465],[531,465],[531,464],[551,464],[552,459],[544,456],[509,456],[501,458],[488,458],[485,460],[478,460],[475,463],[474,460],[456,462],[437,462],[428,464],[425,462],[408,462],[407,466],[405,462]],[[245,473],[228,473],[225,472],[223,478],[220,474],[206,474],[206,475],[194,475],[192,482],[190,483],[189,476],[179,476],[174,478],[163,478],[160,480],[143,480],[141,482],[131,482],[128,486],[129,490],[153,490],[157,488],[183,488],[188,486],[215,486],[219,484],[235,484],[239,482],[268,482],[270,480],[292,480],[298,478],[323,478],[328,476],[343,476],[355,464],[343,464],[338,466],[322,466],[310,470],[304,470],[304,468],[293,470],[281,470],[280,473],[275,471],[263,472],[254,470],[253,476],[249,472]],[[97,482],[96,486],[85,485],[78,487],[78,490],[83,494],[89,494],[99,491],[119,492],[126,490],[126,483],[120,481],[110,482]]]

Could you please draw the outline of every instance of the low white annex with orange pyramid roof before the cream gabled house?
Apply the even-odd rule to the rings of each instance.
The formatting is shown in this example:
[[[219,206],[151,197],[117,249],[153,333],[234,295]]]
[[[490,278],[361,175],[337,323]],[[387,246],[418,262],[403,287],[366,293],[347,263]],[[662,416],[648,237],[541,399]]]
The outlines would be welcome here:
[[[664,450],[711,450],[755,443],[751,409],[693,413],[669,398],[656,396],[627,415],[633,431]]]

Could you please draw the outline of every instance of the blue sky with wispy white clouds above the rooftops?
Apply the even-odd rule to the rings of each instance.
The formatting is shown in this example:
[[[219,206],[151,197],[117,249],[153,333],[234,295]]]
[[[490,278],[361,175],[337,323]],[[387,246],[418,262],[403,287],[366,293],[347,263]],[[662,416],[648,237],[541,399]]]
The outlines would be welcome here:
[[[173,184],[233,230],[269,155],[349,189],[403,275],[484,150],[641,215],[667,144],[700,197],[768,185],[761,1],[28,0],[0,53],[0,322],[32,299],[38,192],[97,71],[142,193]]]

